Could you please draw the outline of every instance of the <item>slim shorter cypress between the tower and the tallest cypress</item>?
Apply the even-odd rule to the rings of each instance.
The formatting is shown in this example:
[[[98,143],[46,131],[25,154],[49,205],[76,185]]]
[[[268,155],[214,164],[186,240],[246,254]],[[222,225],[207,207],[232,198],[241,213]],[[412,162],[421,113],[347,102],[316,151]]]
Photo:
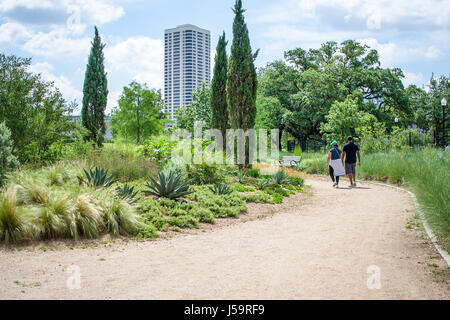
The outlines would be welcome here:
[[[211,82],[211,124],[214,129],[219,129],[222,132],[222,137],[225,137],[228,128],[227,43],[224,32],[217,43],[214,76]]]

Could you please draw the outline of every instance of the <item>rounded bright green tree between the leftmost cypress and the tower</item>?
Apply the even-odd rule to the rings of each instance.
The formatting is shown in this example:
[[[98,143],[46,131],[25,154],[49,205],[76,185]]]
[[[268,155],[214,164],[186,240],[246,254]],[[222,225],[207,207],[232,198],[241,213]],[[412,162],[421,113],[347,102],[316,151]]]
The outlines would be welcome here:
[[[112,130],[139,144],[164,128],[163,107],[160,90],[150,90],[146,84],[133,81],[123,88],[119,107],[112,112]]]

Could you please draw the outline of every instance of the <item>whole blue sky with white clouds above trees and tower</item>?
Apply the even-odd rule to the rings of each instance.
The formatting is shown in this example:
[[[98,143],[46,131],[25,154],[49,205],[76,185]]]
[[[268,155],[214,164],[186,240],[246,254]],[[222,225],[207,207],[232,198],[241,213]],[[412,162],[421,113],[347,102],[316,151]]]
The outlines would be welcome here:
[[[0,0],[0,53],[31,57],[33,72],[81,105],[94,26],[106,44],[107,111],[136,80],[163,89],[164,30],[194,24],[231,45],[234,0]],[[257,67],[287,50],[347,39],[377,49],[405,86],[450,74],[450,0],[243,0]],[[79,110],[75,111],[79,113]]]

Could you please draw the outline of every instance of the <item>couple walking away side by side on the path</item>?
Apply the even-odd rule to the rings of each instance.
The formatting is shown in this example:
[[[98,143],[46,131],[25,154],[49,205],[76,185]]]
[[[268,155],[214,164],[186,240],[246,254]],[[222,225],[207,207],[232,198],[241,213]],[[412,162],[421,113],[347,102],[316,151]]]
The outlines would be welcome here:
[[[348,143],[343,150],[338,148],[336,141],[333,141],[328,153],[327,167],[335,188],[339,188],[339,177],[343,175],[347,175],[350,179],[350,188],[356,187],[356,158],[358,157],[358,166],[361,166],[361,156],[359,146],[353,142],[353,137],[348,137],[347,140]]]

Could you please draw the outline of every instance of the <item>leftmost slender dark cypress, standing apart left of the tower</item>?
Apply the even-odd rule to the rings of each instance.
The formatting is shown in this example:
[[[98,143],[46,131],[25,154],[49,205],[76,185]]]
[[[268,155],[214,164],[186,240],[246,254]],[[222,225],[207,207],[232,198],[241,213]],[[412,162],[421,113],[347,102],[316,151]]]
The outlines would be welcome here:
[[[90,139],[98,145],[103,143],[105,127],[105,109],[108,97],[108,81],[104,66],[103,49],[98,29],[95,27],[95,37],[89,54],[83,85],[83,107],[81,120],[83,126],[90,131]]]

